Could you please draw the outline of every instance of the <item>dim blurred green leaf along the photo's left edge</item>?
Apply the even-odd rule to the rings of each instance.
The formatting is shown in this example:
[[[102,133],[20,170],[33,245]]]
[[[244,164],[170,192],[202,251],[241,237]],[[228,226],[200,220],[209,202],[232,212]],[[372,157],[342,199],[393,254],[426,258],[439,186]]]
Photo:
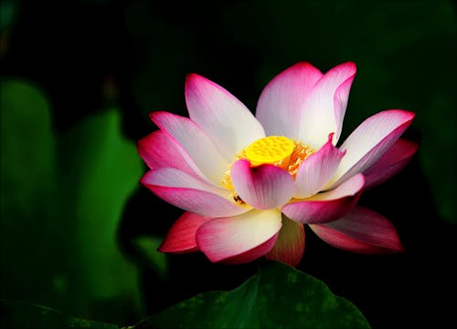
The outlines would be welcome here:
[[[64,271],[65,223],[56,216],[50,106],[42,90],[17,79],[2,78],[0,96],[1,296],[61,305],[54,283]]]

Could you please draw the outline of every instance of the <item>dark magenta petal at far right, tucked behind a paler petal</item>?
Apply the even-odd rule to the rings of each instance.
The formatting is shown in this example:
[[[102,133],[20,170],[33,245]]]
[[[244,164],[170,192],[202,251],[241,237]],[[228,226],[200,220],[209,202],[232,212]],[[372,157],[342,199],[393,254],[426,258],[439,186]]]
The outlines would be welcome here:
[[[371,167],[364,171],[364,189],[371,189],[394,176],[399,170],[402,170],[418,148],[419,145],[412,141],[406,139],[397,140],[381,158],[377,159]]]

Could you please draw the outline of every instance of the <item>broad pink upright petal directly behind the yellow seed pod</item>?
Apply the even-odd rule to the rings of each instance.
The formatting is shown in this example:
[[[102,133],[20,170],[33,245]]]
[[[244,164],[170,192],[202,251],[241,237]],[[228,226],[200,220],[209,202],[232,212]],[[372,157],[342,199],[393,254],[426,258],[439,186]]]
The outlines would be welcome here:
[[[263,89],[256,117],[267,135],[298,137],[304,101],[322,77],[321,71],[307,62],[299,62],[274,77]]]

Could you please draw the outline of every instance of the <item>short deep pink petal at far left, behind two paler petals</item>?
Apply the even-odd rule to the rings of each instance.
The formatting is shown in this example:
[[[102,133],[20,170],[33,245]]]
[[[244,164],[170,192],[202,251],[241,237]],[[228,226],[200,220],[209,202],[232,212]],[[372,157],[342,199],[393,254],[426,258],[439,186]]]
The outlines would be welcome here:
[[[164,131],[156,130],[138,140],[136,148],[150,169],[172,167],[195,175],[175,141]]]

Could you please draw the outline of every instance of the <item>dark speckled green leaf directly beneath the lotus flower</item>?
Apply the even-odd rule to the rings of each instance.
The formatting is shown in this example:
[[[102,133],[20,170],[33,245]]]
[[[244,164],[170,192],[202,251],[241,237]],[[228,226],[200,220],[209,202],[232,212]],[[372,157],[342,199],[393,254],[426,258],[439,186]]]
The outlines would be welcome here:
[[[149,328],[369,328],[353,303],[311,275],[280,262],[229,292],[201,293],[154,314],[134,329]]]

